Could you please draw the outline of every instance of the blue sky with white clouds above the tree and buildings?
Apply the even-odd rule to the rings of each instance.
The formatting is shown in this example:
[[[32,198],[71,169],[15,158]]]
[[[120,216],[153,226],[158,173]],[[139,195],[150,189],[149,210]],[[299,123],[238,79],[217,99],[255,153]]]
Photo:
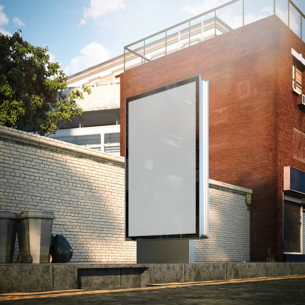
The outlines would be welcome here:
[[[123,54],[125,45],[227,2],[0,0],[0,33],[21,29],[24,40],[47,46],[50,59],[72,75]],[[305,13],[304,0],[294,3]]]

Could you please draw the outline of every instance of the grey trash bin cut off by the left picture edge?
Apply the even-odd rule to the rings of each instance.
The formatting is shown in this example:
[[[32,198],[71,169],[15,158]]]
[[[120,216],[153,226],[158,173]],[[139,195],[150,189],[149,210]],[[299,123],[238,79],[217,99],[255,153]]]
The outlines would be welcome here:
[[[13,262],[17,218],[17,213],[0,211],[0,263]]]

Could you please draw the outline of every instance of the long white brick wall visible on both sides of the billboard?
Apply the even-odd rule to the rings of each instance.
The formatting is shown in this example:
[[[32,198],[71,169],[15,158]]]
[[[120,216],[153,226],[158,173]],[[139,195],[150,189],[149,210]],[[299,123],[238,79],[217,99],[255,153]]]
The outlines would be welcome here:
[[[74,262],[135,262],[124,167],[121,157],[0,126],[0,209],[54,211],[53,234],[67,237]],[[209,239],[196,240],[196,261],[250,259],[246,192],[210,180]]]

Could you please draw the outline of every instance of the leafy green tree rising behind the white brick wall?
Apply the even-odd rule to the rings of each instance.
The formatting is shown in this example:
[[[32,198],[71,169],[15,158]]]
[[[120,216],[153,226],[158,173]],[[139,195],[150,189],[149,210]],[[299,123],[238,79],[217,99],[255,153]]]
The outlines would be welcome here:
[[[77,102],[90,88],[64,93],[67,75],[51,63],[48,48],[0,33],[0,125],[49,135],[81,114]]]

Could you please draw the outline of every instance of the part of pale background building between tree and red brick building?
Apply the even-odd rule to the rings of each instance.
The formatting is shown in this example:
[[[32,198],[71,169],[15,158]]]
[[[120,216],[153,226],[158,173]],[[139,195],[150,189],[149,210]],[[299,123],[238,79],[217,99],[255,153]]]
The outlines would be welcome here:
[[[83,113],[49,137],[119,155],[119,75],[123,71],[121,55],[68,77],[67,94],[83,84],[92,94],[79,103]]]

